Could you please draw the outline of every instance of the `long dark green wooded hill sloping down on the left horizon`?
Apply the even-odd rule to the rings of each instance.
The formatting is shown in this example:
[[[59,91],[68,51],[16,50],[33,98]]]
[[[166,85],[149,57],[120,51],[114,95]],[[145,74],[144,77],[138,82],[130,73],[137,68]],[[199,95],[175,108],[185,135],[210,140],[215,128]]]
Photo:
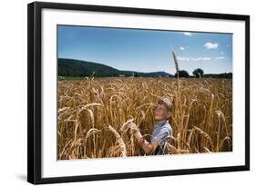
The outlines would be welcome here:
[[[165,72],[140,73],[135,71],[121,71],[105,64],[97,64],[87,61],[74,59],[58,59],[58,75],[85,77],[94,75],[96,77],[118,77],[118,76],[142,76],[142,77],[156,77],[156,76],[170,76],[173,75]]]

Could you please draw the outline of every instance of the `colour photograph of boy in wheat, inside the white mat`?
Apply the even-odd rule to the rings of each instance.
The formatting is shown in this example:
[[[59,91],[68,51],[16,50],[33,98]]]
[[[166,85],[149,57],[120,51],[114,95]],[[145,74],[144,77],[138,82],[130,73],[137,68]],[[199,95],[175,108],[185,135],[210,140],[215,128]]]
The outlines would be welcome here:
[[[57,160],[233,151],[233,34],[56,25]]]

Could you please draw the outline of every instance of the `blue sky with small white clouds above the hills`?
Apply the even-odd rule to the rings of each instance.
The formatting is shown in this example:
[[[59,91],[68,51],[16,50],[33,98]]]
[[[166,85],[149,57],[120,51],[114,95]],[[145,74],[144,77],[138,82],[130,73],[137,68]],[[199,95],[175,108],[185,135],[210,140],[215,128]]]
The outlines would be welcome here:
[[[191,74],[232,72],[232,34],[58,25],[58,57],[106,64],[119,70]]]

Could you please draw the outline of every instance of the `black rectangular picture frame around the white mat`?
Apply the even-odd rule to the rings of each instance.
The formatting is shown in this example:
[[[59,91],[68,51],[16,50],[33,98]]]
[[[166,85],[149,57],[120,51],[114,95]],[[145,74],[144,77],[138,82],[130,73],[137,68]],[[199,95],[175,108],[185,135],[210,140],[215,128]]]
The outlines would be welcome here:
[[[239,20],[245,23],[245,164],[239,166],[185,169],[175,171],[144,171],[67,177],[42,178],[42,10],[61,9],[134,15],[164,15],[209,19]],[[142,9],[101,5],[75,5],[35,2],[27,5],[27,181],[34,184],[69,181],[100,181],[180,174],[250,170],[250,16],[199,12]]]

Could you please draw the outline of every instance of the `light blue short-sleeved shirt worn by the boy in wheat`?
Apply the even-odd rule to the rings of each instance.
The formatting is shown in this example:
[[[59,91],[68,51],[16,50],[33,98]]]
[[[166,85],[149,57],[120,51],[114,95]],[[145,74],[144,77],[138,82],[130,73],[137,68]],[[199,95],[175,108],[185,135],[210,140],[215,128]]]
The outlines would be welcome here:
[[[154,131],[150,138],[150,142],[159,142],[159,146],[154,152],[155,155],[167,154],[167,148],[165,147],[165,142],[170,142],[170,137],[172,136],[172,128],[169,121],[163,121],[155,124]]]

